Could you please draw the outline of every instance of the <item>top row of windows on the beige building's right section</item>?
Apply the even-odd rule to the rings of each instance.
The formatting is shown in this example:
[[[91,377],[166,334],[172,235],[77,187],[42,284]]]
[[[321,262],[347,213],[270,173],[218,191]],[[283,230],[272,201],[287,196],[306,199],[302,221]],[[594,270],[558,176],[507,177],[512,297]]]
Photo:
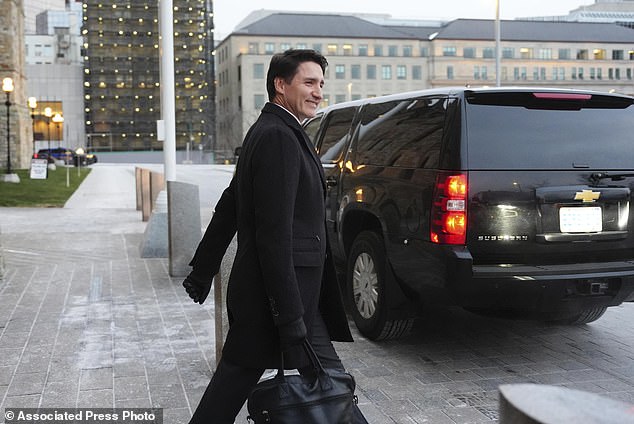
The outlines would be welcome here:
[[[609,52],[609,54],[608,54]],[[556,53],[556,54],[555,54]],[[442,50],[443,56],[458,56],[458,48],[456,46],[445,46]],[[463,47],[462,57],[484,59],[495,58],[494,47],[483,47],[477,49],[475,47]],[[610,50],[607,49],[552,49],[552,48],[532,48],[532,47],[503,47],[501,51],[503,59],[539,59],[539,60],[634,60],[634,49],[630,50]]]

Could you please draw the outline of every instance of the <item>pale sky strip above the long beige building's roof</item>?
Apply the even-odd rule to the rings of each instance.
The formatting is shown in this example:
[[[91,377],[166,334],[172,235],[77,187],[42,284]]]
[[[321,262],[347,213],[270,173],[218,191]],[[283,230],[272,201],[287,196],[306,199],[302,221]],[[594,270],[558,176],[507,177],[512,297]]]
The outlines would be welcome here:
[[[499,0],[500,18],[567,15],[594,0]],[[235,26],[255,10],[294,12],[380,13],[393,18],[452,20],[457,18],[494,19],[496,0],[215,0],[214,25],[217,40],[224,39]]]

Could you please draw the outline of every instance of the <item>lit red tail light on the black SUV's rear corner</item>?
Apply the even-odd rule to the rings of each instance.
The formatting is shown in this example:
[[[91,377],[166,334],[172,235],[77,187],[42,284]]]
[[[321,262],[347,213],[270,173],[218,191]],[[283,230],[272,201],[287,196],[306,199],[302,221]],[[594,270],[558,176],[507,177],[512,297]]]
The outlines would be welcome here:
[[[467,174],[440,172],[431,209],[432,243],[465,244],[467,234]]]

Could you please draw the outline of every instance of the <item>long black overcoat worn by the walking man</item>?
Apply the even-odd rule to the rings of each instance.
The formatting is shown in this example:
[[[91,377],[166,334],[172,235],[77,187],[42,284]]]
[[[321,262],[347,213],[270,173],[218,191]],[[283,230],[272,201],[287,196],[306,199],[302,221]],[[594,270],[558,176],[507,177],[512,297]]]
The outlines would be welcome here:
[[[235,364],[276,368],[276,325],[321,312],[335,341],[352,341],[326,242],[325,179],[297,119],[267,103],[249,129],[236,173],[223,192],[191,265],[211,275],[236,230],[227,289],[229,333],[223,355]],[[286,368],[306,365],[285,357]]]

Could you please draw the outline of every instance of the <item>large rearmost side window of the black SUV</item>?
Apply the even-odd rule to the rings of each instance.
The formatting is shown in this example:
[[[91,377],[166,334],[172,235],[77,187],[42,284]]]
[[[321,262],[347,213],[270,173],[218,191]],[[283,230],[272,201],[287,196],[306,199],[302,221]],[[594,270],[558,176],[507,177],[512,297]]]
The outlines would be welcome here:
[[[435,168],[445,122],[443,98],[418,98],[363,108],[358,165]]]

